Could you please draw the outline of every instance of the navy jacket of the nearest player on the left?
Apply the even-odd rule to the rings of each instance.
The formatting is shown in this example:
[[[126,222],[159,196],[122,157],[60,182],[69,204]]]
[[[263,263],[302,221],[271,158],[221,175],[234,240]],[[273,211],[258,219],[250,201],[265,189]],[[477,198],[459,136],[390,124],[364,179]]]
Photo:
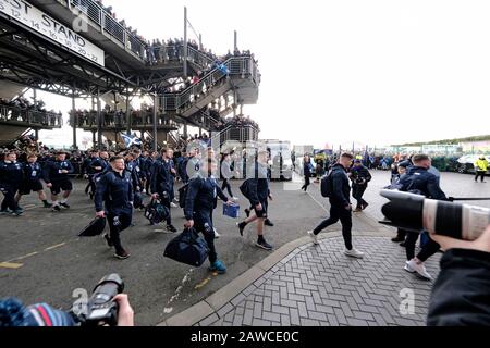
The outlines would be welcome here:
[[[109,169],[105,174],[97,177],[97,189],[94,198],[96,211],[106,210],[110,213],[131,213],[133,211],[133,184],[131,173],[123,171],[123,175]]]

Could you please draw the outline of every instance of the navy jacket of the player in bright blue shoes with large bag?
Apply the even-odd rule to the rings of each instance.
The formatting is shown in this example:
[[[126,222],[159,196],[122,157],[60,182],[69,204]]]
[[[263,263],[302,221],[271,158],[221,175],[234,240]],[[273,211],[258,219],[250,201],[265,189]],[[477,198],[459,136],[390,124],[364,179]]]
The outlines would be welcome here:
[[[195,213],[209,214],[215,208],[216,197],[221,198],[223,202],[229,200],[215,178],[191,179],[185,196],[185,219],[193,220]]]

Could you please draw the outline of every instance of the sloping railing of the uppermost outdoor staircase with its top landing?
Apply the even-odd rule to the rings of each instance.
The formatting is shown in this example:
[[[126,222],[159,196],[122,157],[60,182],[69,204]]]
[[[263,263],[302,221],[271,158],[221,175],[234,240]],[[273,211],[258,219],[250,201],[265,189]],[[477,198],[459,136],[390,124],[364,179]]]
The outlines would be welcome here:
[[[223,63],[228,70],[229,75],[242,75],[243,77],[252,77],[258,84],[257,78],[258,69],[252,57],[232,57]],[[228,76],[220,67],[215,67],[206,74],[197,84],[194,84],[177,94],[164,94],[160,100],[164,110],[179,110],[187,103],[194,102],[194,98],[200,94],[206,94],[209,88]]]

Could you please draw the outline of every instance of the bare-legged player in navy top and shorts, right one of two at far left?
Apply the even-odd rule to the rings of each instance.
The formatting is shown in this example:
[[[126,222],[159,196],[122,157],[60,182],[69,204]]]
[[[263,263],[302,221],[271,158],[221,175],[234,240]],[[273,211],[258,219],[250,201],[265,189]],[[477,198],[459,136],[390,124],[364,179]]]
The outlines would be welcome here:
[[[69,209],[68,198],[73,190],[69,174],[75,170],[70,161],[66,161],[65,152],[58,152],[54,161],[46,162],[44,170],[44,179],[46,186],[51,189],[52,210],[61,211],[61,207]],[[58,202],[58,195],[63,190],[63,199]]]

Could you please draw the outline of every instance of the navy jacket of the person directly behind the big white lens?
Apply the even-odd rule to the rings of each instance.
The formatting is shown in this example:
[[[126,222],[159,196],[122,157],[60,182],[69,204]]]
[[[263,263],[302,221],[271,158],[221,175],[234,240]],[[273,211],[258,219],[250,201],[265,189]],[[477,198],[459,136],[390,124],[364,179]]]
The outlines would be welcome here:
[[[448,200],[445,194],[439,186],[439,179],[425,167],[411,166],[406,175],[400,181],[401,191],[421,192],[427,198],[437,200]]]

